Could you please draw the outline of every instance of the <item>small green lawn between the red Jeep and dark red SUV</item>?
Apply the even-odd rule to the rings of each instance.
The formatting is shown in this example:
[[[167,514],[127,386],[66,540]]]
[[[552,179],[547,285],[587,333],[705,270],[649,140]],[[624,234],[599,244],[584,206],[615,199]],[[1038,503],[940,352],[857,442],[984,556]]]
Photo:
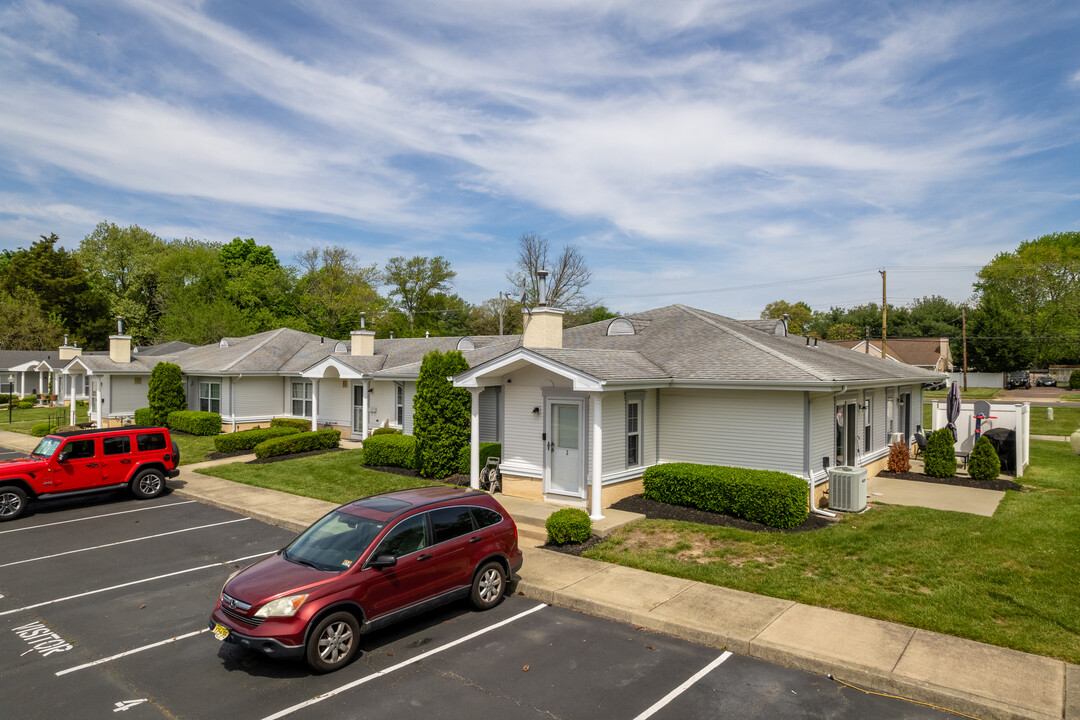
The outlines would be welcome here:
[[[258,465],[239,462],[195,472],[333,503],[346,503],[390,490],[438,485],[419,477],[367,470],[361,464],[363,459],[363,450],[342,450]]]

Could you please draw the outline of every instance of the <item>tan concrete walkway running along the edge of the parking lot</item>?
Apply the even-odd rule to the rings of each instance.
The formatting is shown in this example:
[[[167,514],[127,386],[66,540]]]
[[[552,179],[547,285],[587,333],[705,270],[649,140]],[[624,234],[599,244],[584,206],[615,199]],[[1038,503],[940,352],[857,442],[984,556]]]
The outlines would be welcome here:
[[[32,449],[36,441],[0,432],[0,445],[22,448],[28,444]],[[178,497],[297,531],[334,507],[193,472],[242,460],[185,465],[170,486]],[[523,526],[540,521],[554,510],[505,495],[499,500],[511,515],[522,518]],[[609,513],[608,526],[633,519]],[[605,527],[603,521],[597,525]],[[525,563],[516,592],[543,602],[810,673],[832,674],[868,690],[977,718],[1080,720],[1080,666],[531,546],[538,542],[522,535]]]

